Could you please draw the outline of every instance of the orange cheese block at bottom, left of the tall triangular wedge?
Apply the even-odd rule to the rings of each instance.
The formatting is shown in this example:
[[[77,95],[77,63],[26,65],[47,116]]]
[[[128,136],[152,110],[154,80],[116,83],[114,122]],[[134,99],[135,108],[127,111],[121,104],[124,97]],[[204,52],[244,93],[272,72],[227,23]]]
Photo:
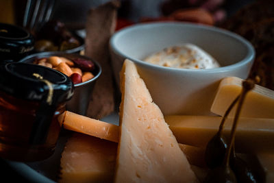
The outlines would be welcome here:
[[[110,141],[73,134],[62,152],[58,182],[112,182],[116,147]]]

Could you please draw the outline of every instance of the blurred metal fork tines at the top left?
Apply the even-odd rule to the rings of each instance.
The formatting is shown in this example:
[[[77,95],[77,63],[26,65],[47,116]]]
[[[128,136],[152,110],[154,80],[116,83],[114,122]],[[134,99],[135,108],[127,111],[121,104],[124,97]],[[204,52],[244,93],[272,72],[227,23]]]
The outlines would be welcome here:
[[[35,31],[51,19],[55,0],[27,0],[23,27]]]

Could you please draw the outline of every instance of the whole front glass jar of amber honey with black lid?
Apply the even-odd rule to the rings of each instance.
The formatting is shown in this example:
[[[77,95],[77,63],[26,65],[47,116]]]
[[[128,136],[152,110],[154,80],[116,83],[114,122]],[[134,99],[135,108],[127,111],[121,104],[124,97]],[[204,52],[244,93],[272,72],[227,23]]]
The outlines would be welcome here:
[[[73,95],[66,75],[44,66],[9,63],[0,69],[0,156],[43,160],[54,152],[58,116]]]

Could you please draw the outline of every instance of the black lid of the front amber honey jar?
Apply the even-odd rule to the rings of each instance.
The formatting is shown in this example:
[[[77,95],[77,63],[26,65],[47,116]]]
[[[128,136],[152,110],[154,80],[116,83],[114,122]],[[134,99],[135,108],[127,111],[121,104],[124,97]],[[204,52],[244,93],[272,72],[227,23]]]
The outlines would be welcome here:
[[[0,67],[0,90],[16,98],[51,103],[71,99],[73,83],[63,73],[45,66],[27,63],[8,63]]]

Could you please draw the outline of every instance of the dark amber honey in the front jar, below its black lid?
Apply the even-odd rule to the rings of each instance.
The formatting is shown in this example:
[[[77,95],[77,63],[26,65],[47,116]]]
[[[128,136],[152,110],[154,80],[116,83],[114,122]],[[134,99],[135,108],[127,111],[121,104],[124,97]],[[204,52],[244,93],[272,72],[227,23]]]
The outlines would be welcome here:
[[[54,152],[60,133],[58,115],[64,112],[64,104],[58,107],[45,143],[32,145],[29,137],[33,129],[39,103],[16,99],[0,92],[0,157],[17,161],[43,160]]]

